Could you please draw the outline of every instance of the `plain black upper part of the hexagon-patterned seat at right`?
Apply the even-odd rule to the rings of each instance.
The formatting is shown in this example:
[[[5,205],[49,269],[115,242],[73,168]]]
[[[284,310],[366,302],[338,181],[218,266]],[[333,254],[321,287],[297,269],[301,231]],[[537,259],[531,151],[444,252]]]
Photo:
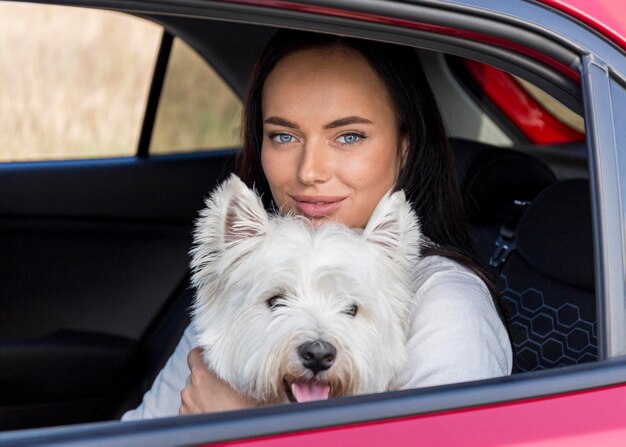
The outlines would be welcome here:
[[[589,182],[570,179],[539,194],[515,233],[519,254],[539,272],[593,291],[593,227]]]

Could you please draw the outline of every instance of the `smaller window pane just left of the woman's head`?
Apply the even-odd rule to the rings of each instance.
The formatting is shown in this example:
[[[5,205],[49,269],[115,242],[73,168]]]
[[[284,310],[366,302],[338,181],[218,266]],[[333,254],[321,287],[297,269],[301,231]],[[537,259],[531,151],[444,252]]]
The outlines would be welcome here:
[[[167,154],[239,144],[241,100],[193,49],[175,39],[150,142]]]

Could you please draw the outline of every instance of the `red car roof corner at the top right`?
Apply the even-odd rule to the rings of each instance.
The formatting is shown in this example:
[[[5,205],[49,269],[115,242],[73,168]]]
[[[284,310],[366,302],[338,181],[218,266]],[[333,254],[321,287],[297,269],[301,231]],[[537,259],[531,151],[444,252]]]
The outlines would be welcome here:
[[[626,22],[623,3],[614,0],[539,0],[586,23],[626,49]]]

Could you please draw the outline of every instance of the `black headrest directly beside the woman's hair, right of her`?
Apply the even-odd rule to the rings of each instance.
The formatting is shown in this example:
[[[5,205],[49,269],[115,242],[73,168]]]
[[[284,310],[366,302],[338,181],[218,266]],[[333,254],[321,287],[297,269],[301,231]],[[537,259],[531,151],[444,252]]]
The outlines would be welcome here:
[[[550,168],[523,152],[451,139],[468,219],[481,213],[510,217],[513,201],[530,202],[556,182]]]

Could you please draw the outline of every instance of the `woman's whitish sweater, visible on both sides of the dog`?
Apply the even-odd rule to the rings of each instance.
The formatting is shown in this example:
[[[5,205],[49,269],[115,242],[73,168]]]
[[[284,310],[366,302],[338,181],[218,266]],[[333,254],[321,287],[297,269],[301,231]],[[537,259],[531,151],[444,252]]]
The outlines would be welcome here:
[[[423,258],[413,308],[401,388],[420,388],[499,377],[511,373],[506,330],[485,284],[443,257]],[[178,415],[180,392],[189,375],[187,354],[195,343],[190,325],[142,403],[122,420]]]

